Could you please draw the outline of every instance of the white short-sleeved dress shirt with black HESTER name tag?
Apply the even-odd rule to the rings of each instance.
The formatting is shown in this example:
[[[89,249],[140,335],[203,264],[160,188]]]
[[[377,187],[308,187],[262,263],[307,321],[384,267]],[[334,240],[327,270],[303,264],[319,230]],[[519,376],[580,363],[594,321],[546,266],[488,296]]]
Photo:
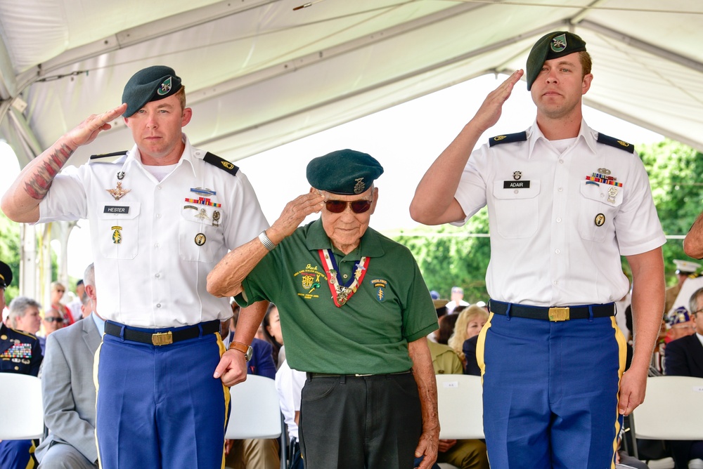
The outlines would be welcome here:
[[[269,225],[241,171],[234,176],[207,163],[204,150],[184,142],[179,163],[161,181],[141,164],[135,145],[115,162],[65,171],[39,205],[39,223],[89,220],[105,319],[159,328],[232,315],[228,298],[207,293],[207,274]],[[129,191],[120,199],[108,192],[117,183]],[[215,194],[193,192],[198,188]],[[199,197],[210,204],[186,201]]]

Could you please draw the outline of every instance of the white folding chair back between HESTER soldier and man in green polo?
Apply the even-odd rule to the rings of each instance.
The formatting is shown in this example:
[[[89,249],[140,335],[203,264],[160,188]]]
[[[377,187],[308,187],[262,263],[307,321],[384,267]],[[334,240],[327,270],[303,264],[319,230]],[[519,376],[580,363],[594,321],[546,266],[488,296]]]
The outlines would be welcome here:
[[[228,440],[278,438],[282,426],[276,384],[265,376],[248,375],[230,388],[232,412],[225,433]]]

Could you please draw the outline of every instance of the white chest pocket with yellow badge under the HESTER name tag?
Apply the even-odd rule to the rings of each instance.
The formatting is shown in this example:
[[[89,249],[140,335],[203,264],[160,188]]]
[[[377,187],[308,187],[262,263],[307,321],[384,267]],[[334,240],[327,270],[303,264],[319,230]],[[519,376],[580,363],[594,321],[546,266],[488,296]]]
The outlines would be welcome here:
[[[121,211],[98,213],[100,251],[107,259],[134,259],[139,246],[139,212],[141,204],[119,206]],[[113,207],[114,209],[114,207]],[[124,209],[127,209],[125,212]],[[105,212],[108,213],[105,213]]]

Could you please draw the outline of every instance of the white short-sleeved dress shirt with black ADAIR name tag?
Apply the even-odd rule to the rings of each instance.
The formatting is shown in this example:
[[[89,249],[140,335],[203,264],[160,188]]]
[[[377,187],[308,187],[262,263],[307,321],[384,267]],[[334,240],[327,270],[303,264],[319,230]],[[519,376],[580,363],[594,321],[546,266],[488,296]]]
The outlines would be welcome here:
[[[579,136],[560,152],[535,122],[527,140],[472,152],[455,194],[466,218],[456,224],[488,205],[491,298],[610,303],[629,288],[620,256],[666,242],[642,162],[597,138],[582,121]],[[610,173],[621,187],[586,180],[593,173]]]

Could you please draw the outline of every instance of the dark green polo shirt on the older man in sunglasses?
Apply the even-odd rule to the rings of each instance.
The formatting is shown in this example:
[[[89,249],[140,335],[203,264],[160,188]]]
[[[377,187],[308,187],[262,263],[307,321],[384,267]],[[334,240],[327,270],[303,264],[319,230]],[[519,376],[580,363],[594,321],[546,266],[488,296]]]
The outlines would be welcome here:
[[[359,289],[337,308],[319,249],[332,249],[322,221],[299,227],[254,267],[237,303],[276,304],[285,357],[293,369],[330,374],[411,369],[408,342],[438,328],[411,252],[371,228],[347,256],[334,251],[344,283],[352,279],[356,260],[370,258]]]

